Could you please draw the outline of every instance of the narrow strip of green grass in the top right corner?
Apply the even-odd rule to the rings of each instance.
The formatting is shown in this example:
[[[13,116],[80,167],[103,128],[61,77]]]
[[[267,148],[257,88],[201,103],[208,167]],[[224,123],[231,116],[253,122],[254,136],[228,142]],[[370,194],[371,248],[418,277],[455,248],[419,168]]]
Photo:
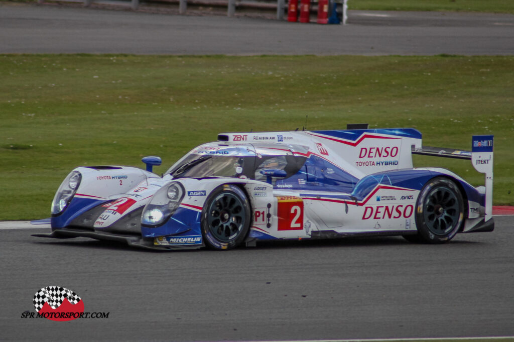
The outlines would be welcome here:
[[[350,0],[348,8],[377,11],[468,11],[514,14],[511,0]]]

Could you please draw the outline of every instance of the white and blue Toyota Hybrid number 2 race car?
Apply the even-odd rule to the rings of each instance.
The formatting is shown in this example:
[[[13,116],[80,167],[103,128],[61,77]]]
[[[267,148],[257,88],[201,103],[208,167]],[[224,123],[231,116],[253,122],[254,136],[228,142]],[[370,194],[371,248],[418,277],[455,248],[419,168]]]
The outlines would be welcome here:
[[[412,154],[471,159],[485,173],[473,187],[441,168],[413,168]],[[414,129],[222,133],[161,176],[78,167],[51,210],[54,238],[120,240],[154,249],[226,250],[259,240],[401,235],[444,243],[494,228],[493,136],[472,151],[421,146]]]

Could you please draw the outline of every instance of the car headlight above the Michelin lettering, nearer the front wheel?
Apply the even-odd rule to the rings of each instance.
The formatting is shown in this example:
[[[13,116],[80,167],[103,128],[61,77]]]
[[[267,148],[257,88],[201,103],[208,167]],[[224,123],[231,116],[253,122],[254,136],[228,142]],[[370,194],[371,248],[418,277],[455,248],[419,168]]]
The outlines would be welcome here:
[[[178,182],[170,183],[157,191],[143,209],[141,224],[158,227],[167,222],[184,198],[185,190]]]

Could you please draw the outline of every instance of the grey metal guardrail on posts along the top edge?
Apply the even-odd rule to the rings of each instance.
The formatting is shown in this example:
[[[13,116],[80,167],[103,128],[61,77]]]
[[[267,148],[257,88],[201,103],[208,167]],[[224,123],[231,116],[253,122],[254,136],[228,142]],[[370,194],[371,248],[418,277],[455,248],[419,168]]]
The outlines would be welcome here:
[[[288,0],[146,0],[141,3],[140,0],[59,0],[59,2],[81,3],[84,5],[84,7],[89,7],[93,4],[97,4],[130,7],[133,10],[139,9],[142,4],[163,5],[164,7],[168,7],[168,5],[178,5],[179,14],[186,14],[188,5],[194,7],[216,7],[219,9],[226,7],[227,16],[234,16],[236,10],[259,10],[268,13],[276,11],[276,16],[279,20],[283,20],[287,13],[287,1]],[[317,2],[317,0],[314,1]],[[45,0],[37,0],[37,2],[39,4],[42,4],[45,2]],[[332,2],[337,2],[342,5],[343,24],[345,24],[347,0],[332,0]],[[311,13],[316,13],[317,10],[317,6],[311,6]]]

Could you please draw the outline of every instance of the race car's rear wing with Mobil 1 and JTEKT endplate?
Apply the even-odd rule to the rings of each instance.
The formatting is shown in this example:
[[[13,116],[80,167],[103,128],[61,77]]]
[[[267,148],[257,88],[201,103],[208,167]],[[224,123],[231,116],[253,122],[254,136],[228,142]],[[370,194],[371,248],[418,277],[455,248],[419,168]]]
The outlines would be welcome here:
[[[449,148],[421,146],[412,147],[412,154],[431,155],[437,157],[470,159],[473,168],[485,173],[485,220],[492,218],[492,155],[493,135],[473,135],[471,151],[455,150]]]

